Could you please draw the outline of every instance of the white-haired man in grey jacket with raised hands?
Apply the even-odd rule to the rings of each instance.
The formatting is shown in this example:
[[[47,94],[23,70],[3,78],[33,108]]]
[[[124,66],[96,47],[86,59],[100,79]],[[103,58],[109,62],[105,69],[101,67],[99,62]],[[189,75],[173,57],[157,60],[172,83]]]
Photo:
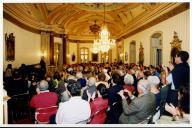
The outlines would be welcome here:
[[[147,80],[140,80],[137,85],[138,97],[136,98],[130,91],[124,89],[118,94],[122,98],[123,113],[119,118],[119,123],[122,124],[138,124],[155,113],[155,95],[150,90],[150,85]],[[128,93],[131,103],[128,104],[126,97],[123,95]]]

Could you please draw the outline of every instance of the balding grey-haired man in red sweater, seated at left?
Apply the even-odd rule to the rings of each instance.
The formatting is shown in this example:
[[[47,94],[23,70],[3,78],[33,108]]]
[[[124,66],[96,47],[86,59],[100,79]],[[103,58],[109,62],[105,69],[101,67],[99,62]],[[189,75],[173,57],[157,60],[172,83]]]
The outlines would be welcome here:
[[[57,104],[57,94],[55,92],[49,92],[49,84],[45,80],[41,80],[34,95],[30,101],[30,106],[33,108],[45,108],[55,106]]]

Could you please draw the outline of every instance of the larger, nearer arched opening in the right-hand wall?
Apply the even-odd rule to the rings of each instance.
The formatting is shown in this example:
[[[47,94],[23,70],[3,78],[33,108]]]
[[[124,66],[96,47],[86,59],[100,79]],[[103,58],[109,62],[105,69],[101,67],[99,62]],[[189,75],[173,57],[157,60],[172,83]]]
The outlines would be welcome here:
[[[162,64],[162,34],[160,32],[154,33],[151,36],[151,59],[150,64],[153,66]]]

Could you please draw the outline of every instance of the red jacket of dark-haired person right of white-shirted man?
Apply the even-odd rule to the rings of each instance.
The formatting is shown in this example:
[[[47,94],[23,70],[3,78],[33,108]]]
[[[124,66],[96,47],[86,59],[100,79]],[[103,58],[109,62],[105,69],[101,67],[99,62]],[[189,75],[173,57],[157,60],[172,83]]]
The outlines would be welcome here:
[[[106,110],[108,108],[108,99],[103,99],[102,97],[96,98],[90,103],[91,106],[91,115],[97,111],[102,110],[98,114],[94,115],[91,119],[90,124],[104,124],[107,117]]]

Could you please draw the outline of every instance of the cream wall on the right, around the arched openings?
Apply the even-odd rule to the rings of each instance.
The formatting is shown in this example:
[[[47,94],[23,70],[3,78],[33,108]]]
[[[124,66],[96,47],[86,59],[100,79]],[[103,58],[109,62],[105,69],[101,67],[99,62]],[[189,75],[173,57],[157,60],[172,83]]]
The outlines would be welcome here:
[[[174,17],[171,17],[149,29],[137,33],[124,40],[124,53],[129,50],[132,40],[136,41],[136,62],[139,61],[139,47],[142,42],[144,47],[144,65],[150,64],[150,37],[156,32],[162,32],[162,63],[167,65],[170,61],[170,42],[173,40],[173,33],[177,32],[178,37],[182,40],[182,50],[189,51],[189,10],[186,10]],[[129,52],[128,52],[129,53]],[[129,61],[129,58],[128,58]]]

